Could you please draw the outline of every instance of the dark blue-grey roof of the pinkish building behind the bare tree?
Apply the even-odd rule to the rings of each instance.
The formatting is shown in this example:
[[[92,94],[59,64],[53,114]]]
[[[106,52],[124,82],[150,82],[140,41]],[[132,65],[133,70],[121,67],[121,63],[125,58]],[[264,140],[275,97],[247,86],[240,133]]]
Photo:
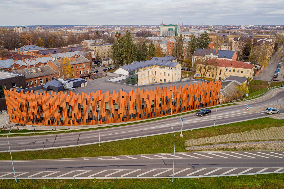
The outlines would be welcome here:
[[[211,52],[212,51],[212,52]],[[217,52],[216,52],[217,51]],[[213,55],[218,55],[219,58],[228,58],[231,59],[233,58],[233,55],[235,51],[227,51],[227,50],[215,50],[215,49],[197,49],[194,53],[193,56],[201,56],[204,57],[205,53],[207,55],[210,55],[212,53]]]

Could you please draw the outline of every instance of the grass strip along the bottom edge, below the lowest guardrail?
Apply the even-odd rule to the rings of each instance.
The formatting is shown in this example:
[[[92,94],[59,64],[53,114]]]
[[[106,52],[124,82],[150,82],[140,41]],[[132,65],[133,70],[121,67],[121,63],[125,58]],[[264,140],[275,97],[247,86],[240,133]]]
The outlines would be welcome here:
[[[280,189],[284,188],[283,174],[246,175],[239,177],[207,177],[193,179],[76,179],[73,180],[0,180],[2,189]]]

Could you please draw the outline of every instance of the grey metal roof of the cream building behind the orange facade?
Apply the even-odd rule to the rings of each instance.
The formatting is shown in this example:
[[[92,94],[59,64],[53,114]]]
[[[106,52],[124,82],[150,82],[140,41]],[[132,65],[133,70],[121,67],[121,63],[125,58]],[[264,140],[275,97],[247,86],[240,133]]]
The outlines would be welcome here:
[[[140,68],[145,68],[148,66],[153,66],[153,65],[157,65],[157,66],[168,66],[168,67],[175,67],[178,64],[178,62],[168,62],[168,61],[159,61],[159,60],[147,60],[144,62],[137,62],[137,61],[133,61],[131,64],[129,65],[125,65],[125,66],[121,66],[120,68],[131,72]]]

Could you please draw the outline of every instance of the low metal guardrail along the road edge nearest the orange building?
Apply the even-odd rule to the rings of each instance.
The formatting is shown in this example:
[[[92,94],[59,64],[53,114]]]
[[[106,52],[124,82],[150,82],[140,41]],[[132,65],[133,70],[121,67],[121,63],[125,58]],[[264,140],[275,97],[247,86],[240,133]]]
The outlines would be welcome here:
[[[230,104],[235,104],[235,102],[231,102],[231,103],[226,103],[226,104],[219,104],[218,106],[224,106],[224,105],[230,105]],[[206,108],[214,108],[216,107],[217,105],[215,106],[210,106],[210,107],[206,107]],[[165,116],[161,116],[161,117],[155,117],[155,118],[150,118],[150,119],[143,119],[143,120],[137,120],[137,121],[127,121],[127,122],[121,122],[121,123],[115,123],[115,124],[100,124],[100,127],[107,127],[107,126],[117,126],[117,125],[122,125],[122,124],[129,124],[129,123],[140,123],[140,122],[143,122],[143,121],[155,121],[155,119],[160,119],[160,118],[167,118],[167,117],[171,117],[171,116],[178,116],[180,114],[186,114],[186,113],[192,113],[192,112],[195,112],[195,111],[199,111],[201,109],[204,109],[204,108],[199,108],[199,109],[193,109],[193,110],[190,110],[190,111],[185,111],[185,112],[180,112],[180,113],[175,113],[175,114],[172,114],[172,115],[165,115]],[[70,126],[70,125],[66,125],[66,126]],[[66,127],[64,126],[64,127]],[[39,126],[39,127],[44,127],[44,126]],[[47,126],[47,127],[50,127],[50,126]],[[75,126],[74,126],[75,127]],[[53,130],[53,131],[39,131],[39,132],[25,132],[25,133],[10,133],[9,135],[21,135],[21,134],[37,134],[37,133],[53,133],[53,132],[62,132],[62,131],[74,131],[74,130],[82,130],[82,129],[93,129],[93,128],[97,128],[98,126],[76,126],[76,127],[82,127],[82,128],[77,128],[77,129],[62,129],[62,130]],[[60,128],[60,126],[57,126],[57,128]],[[0,135],[7,135],[8,133],[1,133]]]

